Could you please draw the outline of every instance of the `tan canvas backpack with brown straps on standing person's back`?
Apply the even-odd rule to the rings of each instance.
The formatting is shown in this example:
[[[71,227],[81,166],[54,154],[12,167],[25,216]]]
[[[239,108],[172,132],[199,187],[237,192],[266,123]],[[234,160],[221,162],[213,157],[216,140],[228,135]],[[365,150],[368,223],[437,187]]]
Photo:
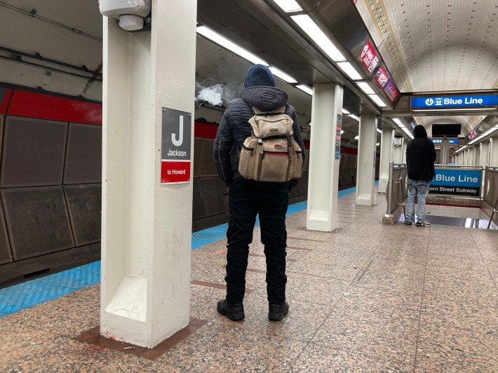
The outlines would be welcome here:
[[[287,182],[302,174],[302,149],[294,140],[292,118],[285,106],[275,112],[260,111],[249,119],[253,135],[240,151],[238,172],[245,179],[260,182]]]

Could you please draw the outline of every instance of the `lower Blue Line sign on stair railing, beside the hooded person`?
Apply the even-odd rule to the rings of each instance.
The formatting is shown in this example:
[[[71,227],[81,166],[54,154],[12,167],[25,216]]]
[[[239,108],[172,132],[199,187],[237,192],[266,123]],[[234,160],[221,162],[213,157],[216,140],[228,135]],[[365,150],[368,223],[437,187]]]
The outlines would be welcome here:
[[[436,169],[429,193],[480,196],[480,170]]]

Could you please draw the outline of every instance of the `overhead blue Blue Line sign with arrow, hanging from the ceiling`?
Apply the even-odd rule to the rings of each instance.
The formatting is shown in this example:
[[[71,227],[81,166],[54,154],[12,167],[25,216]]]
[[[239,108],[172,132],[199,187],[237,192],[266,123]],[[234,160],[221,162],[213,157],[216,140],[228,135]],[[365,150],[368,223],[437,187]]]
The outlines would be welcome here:
[[[412,109],[487,108],[498,106],[498,95],[412,96]]]

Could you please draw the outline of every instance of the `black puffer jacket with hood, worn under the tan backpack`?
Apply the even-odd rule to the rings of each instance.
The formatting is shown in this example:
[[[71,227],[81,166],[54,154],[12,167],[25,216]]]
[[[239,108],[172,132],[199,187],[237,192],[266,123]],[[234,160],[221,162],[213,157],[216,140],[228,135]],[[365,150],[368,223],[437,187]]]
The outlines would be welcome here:
[[[254,115],[251,105],[262,111],[271,111],[283,107],[288,101],[287,93],[269,86],[245,88],[241,93],[241,97],[231,100],[227,110],[224,111],[213,149],[216,170],[227,185],[231,182],[231,179],[241,176],[238,173],[237,148],[240,149],[244,140],[251,135],[251,126],[248,123],[249,119]],[[294,108],[288,104],[285,114],[294,121],[292,132],[297,144],[303,150],[304,164],[306,156],[304,143]]]

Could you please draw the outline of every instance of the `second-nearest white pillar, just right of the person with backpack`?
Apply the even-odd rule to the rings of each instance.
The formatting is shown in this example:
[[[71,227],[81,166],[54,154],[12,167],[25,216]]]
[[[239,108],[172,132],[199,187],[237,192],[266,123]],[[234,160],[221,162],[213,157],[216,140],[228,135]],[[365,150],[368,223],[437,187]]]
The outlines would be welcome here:
[[[336,138],[342,94],[338,84],[316,84],[313,88],[306,223],[313,231],[333,231],[337,227],[340,143],[336,146]]]

